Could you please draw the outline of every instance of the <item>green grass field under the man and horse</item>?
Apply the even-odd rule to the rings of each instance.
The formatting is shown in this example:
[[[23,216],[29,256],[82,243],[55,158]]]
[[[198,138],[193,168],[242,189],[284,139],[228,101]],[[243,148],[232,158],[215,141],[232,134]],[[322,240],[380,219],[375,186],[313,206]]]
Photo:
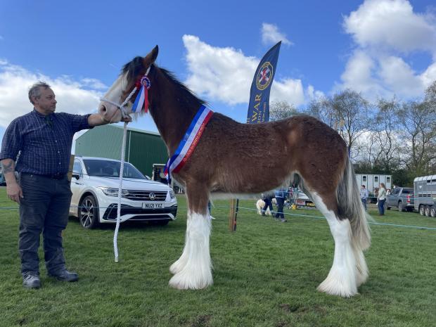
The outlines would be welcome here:
[[[14,205],[0,189],[0,207]],[[39,290],[21,285],[18,210],[0,210],[0,326],[435,326],[435,230],[372,225],[370,278],[360,295],[342,299],[316,291],[333,259],[324,219],[290,216],[283,224],[241,209],[230,233],[229,201],[215,205],[214,285],[197,291],[168,286],[168,268],[184,245],[183,197],[168,226],[121,226],[119,263],[113,226],[86,231],[70,219],[65,254],[79,282],[49,278],[41,263]],[[255,201],[241,206],[254,209]],[[378,222],[436,227],[436,219],[416,213],[390,210],[382,219],[373,209]]]

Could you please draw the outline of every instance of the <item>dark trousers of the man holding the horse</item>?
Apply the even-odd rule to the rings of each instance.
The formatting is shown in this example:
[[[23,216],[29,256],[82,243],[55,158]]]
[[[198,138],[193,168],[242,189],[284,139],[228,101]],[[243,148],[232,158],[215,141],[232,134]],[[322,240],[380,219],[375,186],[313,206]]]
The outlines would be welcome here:
[[[44,239],[47,272],[57,274],[65,269],[62,231],[68,223],[71,190],[68,177],[50,179],[35,174],[20,174],[23,196],[20,200],[18,250],[21,273],[39,274],[39,239]]]

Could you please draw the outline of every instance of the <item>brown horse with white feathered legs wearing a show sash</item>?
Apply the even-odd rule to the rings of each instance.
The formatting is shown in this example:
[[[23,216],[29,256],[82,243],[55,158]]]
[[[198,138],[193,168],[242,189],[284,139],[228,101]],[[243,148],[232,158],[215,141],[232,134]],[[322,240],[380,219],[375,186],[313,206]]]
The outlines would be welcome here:
[[[147,56],[125,64],[98,112],[105,122],[120,122],[123,115],[132,113],[136,86],[147,77],[150,115],[172,158],[199,108],[207,103],[158,67],[157,57],[155,46]],[[259,152],[259,139],[271,145],[267,155]],[[202,289],[213,283],[207,210],[211,194],[236,198],[290,184],[299,185],[310,196],[326,217],[335,242],[333,264],[317,289],[351,297],[368,278],[364,250],[371,244],[371,234],[346,143],[314,117],[241,124],[212,113],[191,156],[172,177],[186,190],[188,211],[184,250],[169,267],[174,275],[169,286]]]

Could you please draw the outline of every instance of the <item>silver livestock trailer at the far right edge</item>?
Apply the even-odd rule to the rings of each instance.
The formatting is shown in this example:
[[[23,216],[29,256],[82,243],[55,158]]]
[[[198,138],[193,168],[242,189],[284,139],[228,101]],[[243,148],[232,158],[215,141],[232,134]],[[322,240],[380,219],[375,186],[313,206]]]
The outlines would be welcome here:
[[[413,179],[415,210],[423,216],[436,217],[436,175]]]

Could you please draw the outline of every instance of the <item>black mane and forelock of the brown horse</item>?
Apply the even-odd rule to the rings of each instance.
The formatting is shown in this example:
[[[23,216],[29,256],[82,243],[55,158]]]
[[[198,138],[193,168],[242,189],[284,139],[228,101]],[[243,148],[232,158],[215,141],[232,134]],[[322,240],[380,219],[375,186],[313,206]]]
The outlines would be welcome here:
[[[186,85],[180,82],[174,76],[174,73],[170,72],[169,70],[166,70],[165,68],[160,68],[158,67],[158,65],[155,65],[154,63],[152,65],[152,70],[153,68],[157,68],[158,70],[160,70],[160,72],[162,72],[162,75],[164,75],[169,80],[169,82],[174,84],[175,88],[180,91],[179,98],[183,98],[186,102],[194,101],[197,102],[198,105],[207,105],[206,101],[198,98],[198,96],[196,96],[193,91],[188,89]],[[134,82],[136,82],[134,79],[139,75],[143,75],[145,72],[146,70],[143,67],[143,58],[140,56],[135,57],[132,61],[125,64],[121,70],[121,73],[123,75],[126,74],[127,84],[129,85],[134,84]]]

